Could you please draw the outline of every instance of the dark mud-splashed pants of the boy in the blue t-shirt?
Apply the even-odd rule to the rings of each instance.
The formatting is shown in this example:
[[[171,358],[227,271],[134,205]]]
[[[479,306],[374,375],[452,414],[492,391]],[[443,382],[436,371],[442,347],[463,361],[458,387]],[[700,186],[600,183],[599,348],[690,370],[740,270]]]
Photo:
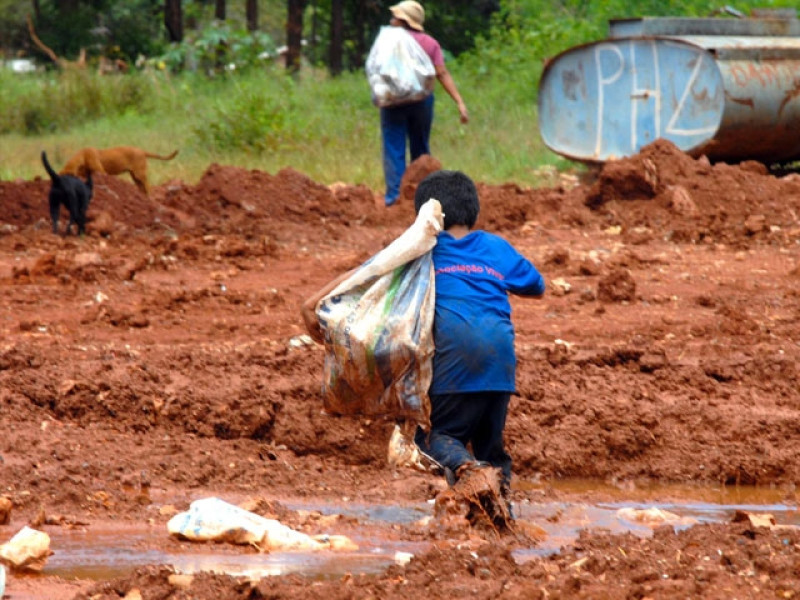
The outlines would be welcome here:
[[[420,449],[454,473],[474,460],[502,471],[502,484],[511,483],[511,456],[503,445],[503,429],[511,395],[507,392],[439,394],[431,396],[431,431],[417,429]],[[473,456],[467,450],[472,445]]]

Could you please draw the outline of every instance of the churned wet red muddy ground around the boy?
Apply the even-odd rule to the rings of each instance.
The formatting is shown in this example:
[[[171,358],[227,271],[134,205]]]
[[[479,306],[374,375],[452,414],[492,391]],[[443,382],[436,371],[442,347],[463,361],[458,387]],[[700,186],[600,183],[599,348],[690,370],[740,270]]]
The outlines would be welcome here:
[[[150,199],[97,179],[84,238],[50,233],[48,182],[0,182],[0,543],[30,524],[54,552],[7,598],[798,594],[800,177],[659,142],[479,185],[478,226],[548,283],[512,300],[506,535],[432,518],[444,482],[387,465],[392,420],[322,411],[299,306],[411,223],[408,195],[220,165]],[[207,496],[359,550],[171,538]],[[681,520],[619,512],[649,507]]]

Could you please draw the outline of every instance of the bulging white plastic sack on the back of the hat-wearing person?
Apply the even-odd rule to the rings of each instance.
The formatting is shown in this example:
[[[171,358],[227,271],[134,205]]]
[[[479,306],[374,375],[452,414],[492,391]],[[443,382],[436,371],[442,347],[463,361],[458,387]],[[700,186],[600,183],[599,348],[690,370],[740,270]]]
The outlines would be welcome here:
[[[385,25],[372,44],[365,65],[376,106],[395,106],[433,92],[436,69],[428,54],[402,27]]]

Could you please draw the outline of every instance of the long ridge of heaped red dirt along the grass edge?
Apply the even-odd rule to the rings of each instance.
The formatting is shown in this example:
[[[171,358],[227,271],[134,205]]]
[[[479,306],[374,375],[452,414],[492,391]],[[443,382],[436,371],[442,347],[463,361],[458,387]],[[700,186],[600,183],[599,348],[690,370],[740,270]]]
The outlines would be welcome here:
[[[270,234],[279,239],[305,227],[345,235],[352,225],[391,226],[413,219],[413,192],[441,167],[433,157],[409,166],[404,193],[391,211],[365,186],[320,185],[293,169],[275,175],[211,165],[196,185],[156,186],[152,199],[121,177],[99,175],[89,209],[90,225],[101,216],[123,230],[164,228],[199,234]],[[49,180],[0,182],[3,223],[43,227]],[[524,227],[618,227],[623,239],[658,237],[677,243],[785,244],[797,233],[800,176],[771,175],[759,163],[711,165],[659,140],[636,156],[609,161],[590,185],[546,189],[478,182],[477,226],[493,231]],[[754,200],[755,199],[755,200]],[[96,227],[90,227],[96,231]],[[102,228],[109,233],[109,226]]]

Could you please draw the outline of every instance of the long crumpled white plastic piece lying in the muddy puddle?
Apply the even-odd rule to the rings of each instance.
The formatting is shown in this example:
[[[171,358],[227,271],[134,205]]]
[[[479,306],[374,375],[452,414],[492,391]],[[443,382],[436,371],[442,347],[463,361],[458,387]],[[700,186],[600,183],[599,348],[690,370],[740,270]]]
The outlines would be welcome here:
[[[219,498],[195,500],[167,523],[170,535],[195,542],[244,544],[270,550],[353,550],[345,536],[310,536]]]

